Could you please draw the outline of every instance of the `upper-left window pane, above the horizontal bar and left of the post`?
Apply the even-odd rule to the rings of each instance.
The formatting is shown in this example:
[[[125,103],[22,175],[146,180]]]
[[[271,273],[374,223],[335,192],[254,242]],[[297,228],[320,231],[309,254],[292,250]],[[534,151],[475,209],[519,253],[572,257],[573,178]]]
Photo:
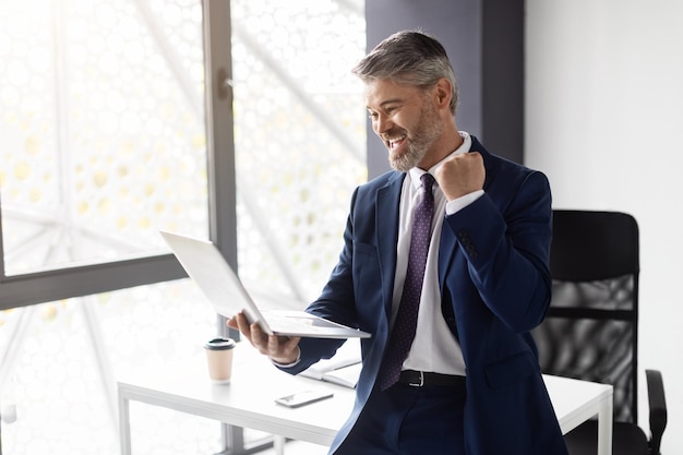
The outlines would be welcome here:
[[[3,1],[8,275],[206,236],[197,2]]]

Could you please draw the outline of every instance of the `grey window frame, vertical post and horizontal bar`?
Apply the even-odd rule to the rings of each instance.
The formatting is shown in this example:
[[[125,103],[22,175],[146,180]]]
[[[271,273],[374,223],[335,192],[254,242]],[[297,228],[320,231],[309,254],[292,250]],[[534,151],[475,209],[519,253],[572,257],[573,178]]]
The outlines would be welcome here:
[[[204,109],[208,235],[237,268],[230,2],[200,0],[204,47]],[[8,276],[0,194],[0,311],[187,277],[172,254],[149,255]]]

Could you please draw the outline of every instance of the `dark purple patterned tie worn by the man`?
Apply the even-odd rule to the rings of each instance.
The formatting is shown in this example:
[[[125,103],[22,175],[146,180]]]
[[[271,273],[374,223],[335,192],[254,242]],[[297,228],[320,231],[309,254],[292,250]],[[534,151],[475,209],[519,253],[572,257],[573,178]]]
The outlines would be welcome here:
[[[416,205],[412,214],[412,235],[404,291],[380,369],[379,383],[383,391],[398,381],[403,362],[408,357],[418,324],[418,308],[422,294],[424,266],[427,265],[427,252],[429,251],[432,216],[434,214],[434,195],[432,194],[434,178],[430,173],[424,173],[421,180],[424,192],[422,201]]]

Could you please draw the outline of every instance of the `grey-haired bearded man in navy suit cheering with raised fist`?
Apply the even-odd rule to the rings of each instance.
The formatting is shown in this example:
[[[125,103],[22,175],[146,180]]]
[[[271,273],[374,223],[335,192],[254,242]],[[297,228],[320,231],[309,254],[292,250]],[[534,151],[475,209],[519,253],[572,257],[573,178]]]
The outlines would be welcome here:
[[[431,36],[399,32],[354,73],[395,170],[354,193],[339,262],[307,310],[373,334],[331,453],[566,454],[529,334],[551,296],[547,178],[458,131]],[[242,314],[228,325],[293,374],[343,343],[268,337]]]

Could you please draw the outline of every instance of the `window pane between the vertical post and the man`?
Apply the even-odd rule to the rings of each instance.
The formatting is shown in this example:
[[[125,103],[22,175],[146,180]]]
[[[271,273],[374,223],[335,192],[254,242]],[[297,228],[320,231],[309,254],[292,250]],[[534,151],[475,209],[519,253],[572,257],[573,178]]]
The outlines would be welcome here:
[[[350,73],[364,53],[363,11],[232,2],[238,262],[263,301],[301,307],[320,292],[366,180],[367,116]]]

